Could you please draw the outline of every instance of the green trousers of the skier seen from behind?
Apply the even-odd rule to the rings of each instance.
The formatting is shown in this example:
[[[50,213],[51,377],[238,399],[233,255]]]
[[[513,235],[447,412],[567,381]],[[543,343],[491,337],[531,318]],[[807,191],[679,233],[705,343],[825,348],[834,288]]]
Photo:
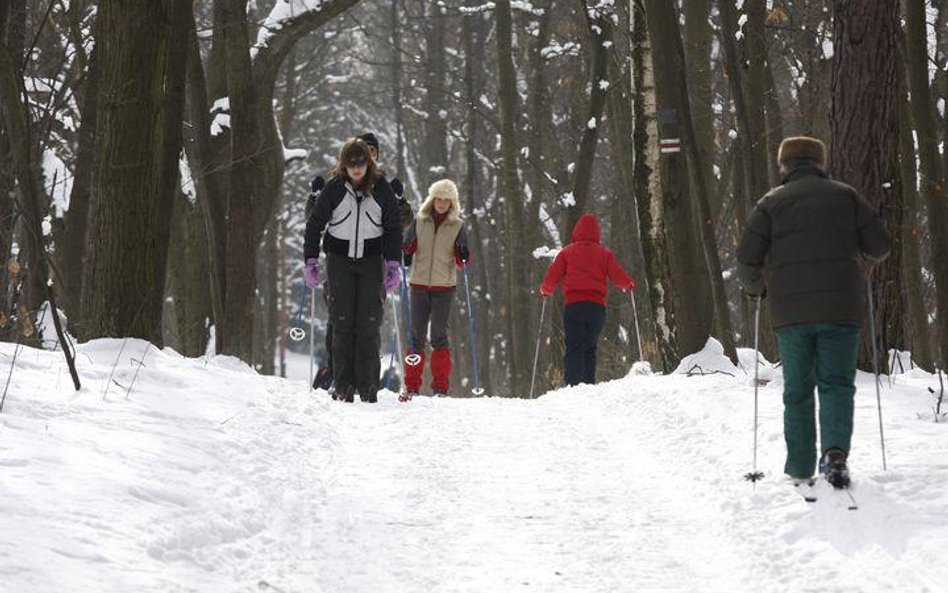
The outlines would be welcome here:
[[[849,452],[859,327],[831,323],[790,325],[777,330],[783,364],[784,471],[806,478],[816,470],[816,413],[820,395],[820,451]]]

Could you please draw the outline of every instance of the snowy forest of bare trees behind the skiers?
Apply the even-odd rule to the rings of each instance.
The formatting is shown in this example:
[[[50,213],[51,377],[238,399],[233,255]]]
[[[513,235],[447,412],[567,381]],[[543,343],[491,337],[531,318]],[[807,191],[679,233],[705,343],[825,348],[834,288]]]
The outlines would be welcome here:
[[[5,341],[42,345],[55,294],[79,340],[211,341],[281,373],[310,180],[373,131],[416,207],[460,188],[477,339],[459,294],[456,378],[473,347],[488,394],[528,393],[540,335],[536,392],[562,382],[562,300],[541,320],[537,286],[583,212],[638,281],[656,369],[709,336],[733,356],[742,222],[808,134],[895,239],[882,351],[948,359],[946,0],[5,0],[0,35]],[[631,302],[609,305],[600,379],[637,357]]]

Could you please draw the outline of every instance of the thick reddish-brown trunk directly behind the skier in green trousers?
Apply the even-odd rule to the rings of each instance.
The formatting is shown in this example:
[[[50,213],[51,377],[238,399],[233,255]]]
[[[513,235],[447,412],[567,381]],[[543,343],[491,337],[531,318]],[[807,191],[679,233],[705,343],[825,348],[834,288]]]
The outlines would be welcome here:
[[[879,210],[893,234],[892,253],[877,266],[872,285],[877,335],[884,356],[890,348],[901,348],[905,342],[899,233],[902,194],[896,187],[898,3],[840,0],[835,5],[833,23],[831,170]],[[863,368],[870,362],[869,352],[864,339]]]

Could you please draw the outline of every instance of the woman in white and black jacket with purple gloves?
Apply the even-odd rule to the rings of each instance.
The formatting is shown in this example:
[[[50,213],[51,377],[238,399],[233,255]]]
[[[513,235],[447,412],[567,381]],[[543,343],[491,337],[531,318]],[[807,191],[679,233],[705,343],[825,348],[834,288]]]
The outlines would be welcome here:
[[[358,391],[363,401],[375,402],[382,305],[385,292],[398,288],[401,271],[398,202],[358,138],[343,145],[331,175],[306,222],[306,280],[313,287],[320,283],[322,239],[333,325],[332,396],[353,401]]]

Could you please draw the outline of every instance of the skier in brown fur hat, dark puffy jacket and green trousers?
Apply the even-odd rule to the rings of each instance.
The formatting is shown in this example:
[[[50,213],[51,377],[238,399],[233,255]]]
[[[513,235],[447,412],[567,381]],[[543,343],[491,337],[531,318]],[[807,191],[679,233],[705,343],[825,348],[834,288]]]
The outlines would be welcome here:
[[[807,480],[816,470],[818,388],[820,472],[846,488],[864,269],[885,259],[891,238],[865,198],[829,178],[823,142],[787,138],[777,160],[783,180],[744,225],[738,274],[748,295],[770,299],[784,374],[784,471]]]

